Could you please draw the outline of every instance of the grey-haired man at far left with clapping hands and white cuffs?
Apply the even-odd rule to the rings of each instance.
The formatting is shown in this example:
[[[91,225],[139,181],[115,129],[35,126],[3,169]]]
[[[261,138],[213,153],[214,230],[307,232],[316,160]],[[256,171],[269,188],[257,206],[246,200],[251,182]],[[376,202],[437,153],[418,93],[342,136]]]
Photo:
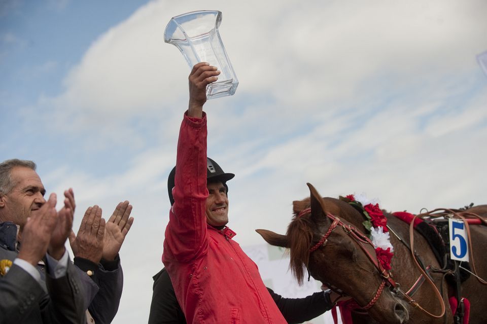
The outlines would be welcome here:
[[[85,292],[64,248],[73,226],[69,200],[56,212],[56,195],[44,200],[29,167],[16,166],[8,176],[12,188],[0,179],[0,322],[82,323]],[[36,268],[40,262],[45,273]]]

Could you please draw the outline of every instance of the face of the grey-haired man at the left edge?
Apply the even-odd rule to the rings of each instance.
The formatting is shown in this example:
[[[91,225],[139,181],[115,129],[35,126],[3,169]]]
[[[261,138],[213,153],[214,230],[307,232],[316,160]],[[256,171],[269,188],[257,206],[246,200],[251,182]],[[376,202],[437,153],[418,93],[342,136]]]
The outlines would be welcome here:
[[[22,230],[27,217],[46,203],[46,190],[37,172],[30,168],[14,167],[11,178],[14,188],[0,198],[0,217],[3,222],[20,225]]]

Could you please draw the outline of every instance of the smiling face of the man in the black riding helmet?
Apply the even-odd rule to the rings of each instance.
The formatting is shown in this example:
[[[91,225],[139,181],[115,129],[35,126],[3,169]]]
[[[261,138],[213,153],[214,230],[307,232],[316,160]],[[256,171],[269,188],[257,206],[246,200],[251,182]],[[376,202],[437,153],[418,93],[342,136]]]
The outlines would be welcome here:
[[[227,190],[223,183],[216,182],[206,185],[206,222],[212,226],[223,226],[228,223]]]

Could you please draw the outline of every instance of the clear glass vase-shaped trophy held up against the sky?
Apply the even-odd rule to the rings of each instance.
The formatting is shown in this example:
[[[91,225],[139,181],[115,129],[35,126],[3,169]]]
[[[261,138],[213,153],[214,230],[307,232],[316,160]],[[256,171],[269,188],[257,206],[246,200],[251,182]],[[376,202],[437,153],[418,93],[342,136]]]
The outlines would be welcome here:
[[[164,42],[176,46],[190,68],[199,62],[208,62],[220,70],[218,81],[206,87],[208,99],[231,96],[238,80],[223,46],[218,27],[220,11],[193,11],[173,17],[164,30]]]

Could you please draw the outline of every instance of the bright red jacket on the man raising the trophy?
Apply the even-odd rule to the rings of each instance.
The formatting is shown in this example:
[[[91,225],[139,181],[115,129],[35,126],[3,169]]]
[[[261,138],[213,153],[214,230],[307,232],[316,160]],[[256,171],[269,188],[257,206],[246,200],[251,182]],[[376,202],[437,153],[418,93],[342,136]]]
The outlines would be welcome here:
[[[286,323],[228,228],[206,224],[206,115],[183,119],[162,261],[188,323]]]

